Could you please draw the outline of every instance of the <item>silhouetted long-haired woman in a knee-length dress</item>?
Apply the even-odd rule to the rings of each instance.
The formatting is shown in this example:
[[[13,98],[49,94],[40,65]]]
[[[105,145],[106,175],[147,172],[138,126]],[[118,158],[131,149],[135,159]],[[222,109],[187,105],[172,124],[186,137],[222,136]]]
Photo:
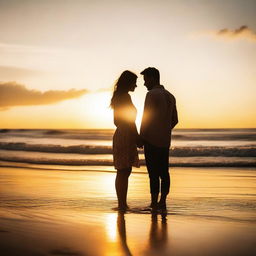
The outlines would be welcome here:
[[[141,147],[137,128],[135,125],[136,108],[128,92],[133,92],[137,75],[126,70],[118,78],[110,106],[114,110],[114,124],[117,127],[113,136],[113,158],[116,174],[116,194],[118,209],[126,210],[128,178],[132,166],[139,167],[137,146]]]

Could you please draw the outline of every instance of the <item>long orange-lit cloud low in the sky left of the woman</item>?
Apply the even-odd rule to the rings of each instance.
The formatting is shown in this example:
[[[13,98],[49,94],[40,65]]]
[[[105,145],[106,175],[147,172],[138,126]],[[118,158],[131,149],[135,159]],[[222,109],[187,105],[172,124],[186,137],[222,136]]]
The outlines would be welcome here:
[[[27,89],[16,82],[0,82],[0,109],[14,106],[47,105],[73,99],[88,93],[87,90],[46,91]]]

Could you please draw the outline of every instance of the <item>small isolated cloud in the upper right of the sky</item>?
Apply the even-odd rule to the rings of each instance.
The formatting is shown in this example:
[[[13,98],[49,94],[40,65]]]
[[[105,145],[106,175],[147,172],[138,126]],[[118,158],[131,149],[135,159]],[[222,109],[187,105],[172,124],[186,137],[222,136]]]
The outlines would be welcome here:
[[[217,37],[223,37],[228,39],[244,38],[244,39],[249,39],[256,42],[256,33],[253,30],[251,30],[248,26],[245,26],[245,25],[235,30],[223,28],[219,31],[216,31],[214,34]]]

